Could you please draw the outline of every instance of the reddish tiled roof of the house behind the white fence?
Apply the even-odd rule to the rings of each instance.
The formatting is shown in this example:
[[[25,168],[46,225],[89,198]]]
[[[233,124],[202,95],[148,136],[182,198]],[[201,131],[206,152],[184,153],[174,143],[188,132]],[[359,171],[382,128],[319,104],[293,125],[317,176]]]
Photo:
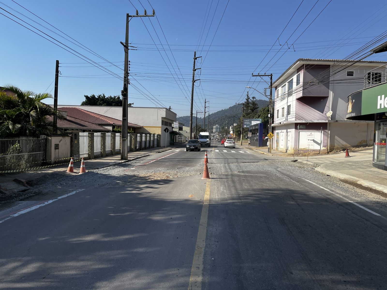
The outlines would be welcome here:
[[[98,124],[98,125],[122,125],[122,121],[115,119],[115,118],[110,118],[108,116],[104,116],[101,114],[97,114],[94,112],[86,111],[84,109],[80,109],[77,107],[60,107],[59,108],[61,111],[66,111],[67,116],[70,116],[72,118],[77,118],[80,120],[84,120],[93,124]],[[132,124],[128,123],[129,127],[137,127],[141,128],[141,126],[137,124]]]

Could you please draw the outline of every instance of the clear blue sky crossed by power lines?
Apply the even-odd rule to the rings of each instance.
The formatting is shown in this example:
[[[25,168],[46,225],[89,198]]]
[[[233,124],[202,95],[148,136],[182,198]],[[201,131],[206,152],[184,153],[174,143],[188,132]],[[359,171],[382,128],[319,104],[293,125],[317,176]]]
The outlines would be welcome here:
[[[112,66],[110,63],[101,63],[101,65],[106,66],[114,73],[123,75],[121,68],[123,68],[124,53],[120,41],[125,40],[125,15],[126,13],[135,14],[135,9],[129,1],[15,0],[15,2],[98,55],[103,56],[106,60],[114,62],[118,67]],[[18,14],[17,12],[21,12],[63,35],[15,2],[0,0],[0,7],[91,60],[98,63],[106,62],[76,46],[75,41],[70,43],[61,36]],[[202,70],[201,75],[197,75],[196,78],[200,78],[202,81],[196,83],[198,87],[195,87],[194,112],[203,110],[205,98],[210,101],[210,111],[215,112],[241,101],[247,92],[245,90],[247,85],[257,87],[263,92],[263,88],[267,85],[261,83],[257,86],[257,82],[253,84],[254,78],[250,78],[253,72],[274,73],[274,78],[276,78],[297,58],[345,58],[374,36],[382,33],[385,30],[384,24],[387,16],[387,3],[384,2],[365,5],[364,1],[354,0],[349,5],[349,2],[345,0],[332,0],[323,10],[329,0],[319,0],[291,36],[316,3],[315,0],[304,0],[279,37],[279,43],[284,44],[291,36],[288,43],[295,43],[296,52],[291,48],[287,49],[283,55],[283,51],[286,50],[285,46],[279,46],[277,41],[264,58],[300,5],[301,0],[230,0],[229,2],[227,0],[149,0],[149,2],[156,10],[158,19],[156,17],[134,18],[129,24],[129,41],[133,46],[138,47],[138,50],[129,51],[131,82],[147,95],[157,99],[163,106],[171,106],[179,116],[189,114],[190,102],[187,98],[190,97],[191,92],[194,50],[197,50],[197,56],[203,56],[197,66],[202,67]],[[228,6],[225,10],[227,2]],[[142,5],[138,0],[132,0],[132,3],[139,10],[139,14],[144,13],[142,5],[146,7],[147,13],[151,14],[151,5],[147,0],[141,0]],[[319,17],[296,40],[322,10],[323,12]],[[208,11],[210,13],[207,18]],[[15,19],[4,10],[0,12]],[[222,15],[223,19],[219,29],[217,29]],[[161,31],[159,23],[163,31]],[[31,28],[27,24],[24,25]],[[59,78],[59,104],[79,105],[84,100],[84,95],[90,94],[120,95],[122,81],[118,78],[92,67],[84,60],[3,15],[0,15],[0,27],[2,27],[0,85],[13,84],[21,89],[53,94],[55,60],[59,60],[61,63],[60,72],[62,73]],[[198,47],[202,27],[204,27],[204,34],[201,38],[201,45]],[[156,29],[157,34],[154,29]],[[66,38],[68,37],[66,36]],[[212,39],[214,40],[209,49]],[[166,51],[161,45],[157,46],[158,51],[153,41],[156,44],[163,44]],[[281,51],[274,56],[278,49]],[[281,55],[283,56],[279,58]],[[273,56],[273,60],[269,62]],[[277,60],[278,58],[279,60]],[[381,53],[369,59],[387,60],[387,56],[386,53]],[[273,67],[267,70],[275,61]],[[255,70],[260,63],[260,67]],[[267,65],[266,68],[262,68],[264,65]],[[250,90],[250,94],[258,99],[263,98],[253,90]],[[52,100],[50,101],[52,103]],[[133,87],[129,88],[129,102],[134,102],[134,106],[155,106],[153,102]]]

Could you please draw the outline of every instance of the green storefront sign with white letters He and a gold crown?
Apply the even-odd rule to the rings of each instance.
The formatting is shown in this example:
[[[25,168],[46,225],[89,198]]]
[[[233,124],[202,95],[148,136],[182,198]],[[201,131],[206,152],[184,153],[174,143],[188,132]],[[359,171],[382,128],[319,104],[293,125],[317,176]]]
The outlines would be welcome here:
[[[373,114],[384,112],[387,112],[387,83],[348,96],[347,119],[373,121]]]

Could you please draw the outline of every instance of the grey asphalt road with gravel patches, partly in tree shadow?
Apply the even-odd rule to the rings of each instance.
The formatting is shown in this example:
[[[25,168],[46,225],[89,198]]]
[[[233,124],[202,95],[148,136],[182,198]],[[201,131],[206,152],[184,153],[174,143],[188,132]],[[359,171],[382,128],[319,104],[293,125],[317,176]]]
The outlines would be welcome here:
[[[384,209],[217,144],[210,180],[179,148],[0,212],[0,289],[386,289]]]

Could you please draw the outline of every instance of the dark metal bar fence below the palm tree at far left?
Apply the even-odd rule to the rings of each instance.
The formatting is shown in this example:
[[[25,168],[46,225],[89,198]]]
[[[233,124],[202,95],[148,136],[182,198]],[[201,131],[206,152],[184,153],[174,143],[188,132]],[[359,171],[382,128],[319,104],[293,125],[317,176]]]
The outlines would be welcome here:
[[[46,159],[46,137],[0,139],[0,171],[39,166]]]

